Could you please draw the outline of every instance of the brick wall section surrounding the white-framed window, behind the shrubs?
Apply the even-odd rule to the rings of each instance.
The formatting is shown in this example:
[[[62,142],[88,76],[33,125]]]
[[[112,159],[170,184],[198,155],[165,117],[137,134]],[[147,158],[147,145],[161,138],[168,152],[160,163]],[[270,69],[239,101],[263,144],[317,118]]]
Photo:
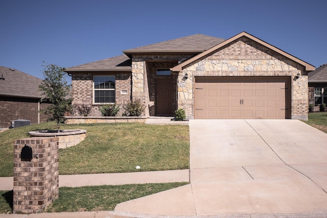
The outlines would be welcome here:
[[[101,116],[98,104],[93,104],[93,77],[115,76],[115,104],[120,107],[117,115],[122,115],[123,105],[131,99],[131,73],[128,72],[76,72],[72,75],[72,105],[91,105],[89,116]],[[127,94],[121,90],[127,90]],[[74,114],[76,115],[76,114]]]

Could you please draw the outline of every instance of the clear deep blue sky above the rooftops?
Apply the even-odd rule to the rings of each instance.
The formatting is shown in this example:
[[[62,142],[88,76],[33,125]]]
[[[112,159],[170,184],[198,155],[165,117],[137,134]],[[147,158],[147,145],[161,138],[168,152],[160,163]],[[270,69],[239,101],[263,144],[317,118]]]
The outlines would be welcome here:
[[[326,0],[0,0],[0,65],[43,79],[42,61],[67,68],[197,33],[245,31],[319,67],[326,8]]]

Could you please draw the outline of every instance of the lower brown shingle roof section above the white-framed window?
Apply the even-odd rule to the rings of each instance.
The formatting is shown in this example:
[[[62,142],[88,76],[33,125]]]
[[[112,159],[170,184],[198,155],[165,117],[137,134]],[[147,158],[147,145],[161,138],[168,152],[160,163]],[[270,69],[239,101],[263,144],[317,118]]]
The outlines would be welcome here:
[[[66,72],[71,71],[131,71],[131,60],[126,55],[121,55],[113,58],[107,58],[100,61],[95,61],[87,64],[73,66],[67,68]]]

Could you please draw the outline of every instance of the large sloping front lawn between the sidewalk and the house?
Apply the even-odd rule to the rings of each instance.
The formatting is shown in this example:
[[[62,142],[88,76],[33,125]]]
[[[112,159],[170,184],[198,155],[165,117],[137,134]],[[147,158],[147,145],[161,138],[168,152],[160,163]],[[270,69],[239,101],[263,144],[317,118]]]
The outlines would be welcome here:
[[[56,129],[53,122],[0,133],[0,176],[13,176],[14,139],[33,130]],[[59,174],[125,173],[189,168],[189,127],[139,123],[61,125],[85,129],[77,146],[59,150]],[[135,166],[141,169],[135,169]]]

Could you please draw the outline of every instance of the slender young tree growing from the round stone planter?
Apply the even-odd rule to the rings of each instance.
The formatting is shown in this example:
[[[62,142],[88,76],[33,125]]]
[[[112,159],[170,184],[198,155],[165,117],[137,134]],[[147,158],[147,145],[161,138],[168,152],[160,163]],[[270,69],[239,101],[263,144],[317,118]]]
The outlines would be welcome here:
[[[71,85],[68,85],[67,81],[65,81],[65,68],[56,64],[44,64],[42,65],[44,67],[44,80],[39,85],[39,90],[44,95],[41,101],[51,103],[51,106],[42,110],[42,112],[48,115],[48,120],[57,121],[59,132],[59,124],[64,122],[65,112],[72,109],[72,99],[66,98],[71,91]]]

